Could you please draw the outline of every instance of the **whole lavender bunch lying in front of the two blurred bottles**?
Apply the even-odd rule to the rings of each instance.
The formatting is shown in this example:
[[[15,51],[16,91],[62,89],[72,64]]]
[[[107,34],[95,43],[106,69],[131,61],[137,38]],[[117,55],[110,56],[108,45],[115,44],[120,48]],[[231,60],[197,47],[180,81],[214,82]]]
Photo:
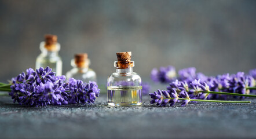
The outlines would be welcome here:
[[[13,103],[28,106],[91,104],[100,95],[96,82],[83,83],[71,78],[65,83],[65,76],[55,76],[49,67],[27,69],[12,78],[12,83],[0,83],[0,90],[9,92]]]

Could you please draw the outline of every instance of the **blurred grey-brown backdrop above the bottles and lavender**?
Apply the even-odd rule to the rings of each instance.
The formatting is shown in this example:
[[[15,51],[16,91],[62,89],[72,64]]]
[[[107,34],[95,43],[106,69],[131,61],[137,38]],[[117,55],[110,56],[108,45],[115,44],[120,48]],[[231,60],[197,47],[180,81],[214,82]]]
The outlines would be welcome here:
[[[196,67],[206,75],[256,68],[256,1],[0,1],[0,81],[35,68],[45,34],[61,44],[63,73],[86,52],[105,82],[116,52],[134,71]]]

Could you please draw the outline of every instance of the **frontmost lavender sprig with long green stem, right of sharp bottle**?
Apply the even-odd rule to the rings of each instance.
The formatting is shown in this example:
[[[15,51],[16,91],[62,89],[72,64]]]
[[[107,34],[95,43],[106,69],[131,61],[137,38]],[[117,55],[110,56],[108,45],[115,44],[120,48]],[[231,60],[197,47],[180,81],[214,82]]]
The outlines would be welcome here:
[[[175,94],[175,89],[172,90],[171,94],[166,90],[158,90],[154,93],[149,93],[152,100],[151,104],[156,103],[158,106],[166,106],[168,103],[170,106],[173,106],[178,100],[182,100],[181,107],[188,105],[191,101],[202,101],[202,102],[211,102],[211,103],[251,103],[251,101],[225,101],[225,100],[200,100],[200,99],[191,99],[187,92],[182,90],[180,95]]]

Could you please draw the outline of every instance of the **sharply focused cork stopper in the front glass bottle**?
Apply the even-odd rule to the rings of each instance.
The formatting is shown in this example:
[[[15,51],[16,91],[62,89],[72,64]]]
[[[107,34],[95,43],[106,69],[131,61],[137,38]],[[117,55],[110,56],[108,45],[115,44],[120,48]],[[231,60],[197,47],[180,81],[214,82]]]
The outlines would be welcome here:
[[[118,52],[116,53],[118,61],[115,67],[118,69],[133,67],[133,61],[131,61],[131,52]]]

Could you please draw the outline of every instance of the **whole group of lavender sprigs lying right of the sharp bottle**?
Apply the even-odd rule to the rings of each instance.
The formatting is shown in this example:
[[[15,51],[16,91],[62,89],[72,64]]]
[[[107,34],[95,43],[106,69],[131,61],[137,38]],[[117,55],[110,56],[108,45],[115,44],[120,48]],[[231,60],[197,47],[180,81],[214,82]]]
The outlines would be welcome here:
[[[167,90],[158,90],[158,92],[149,94],[153,99],[151,101],[152,104],[156,103],[156,105],[163,106],[170,103],[173,106],[179,100],[183,100],[181,106],[191,101],[248,103],[248,101],[222,100],[227,100],[228,98],[256,97],[250,94],[256,89],[256,69],[251,70],[249,75],[245,75],[244,72],[237,72],[237,74],[232,75],[224,74],[208,77],[200,72],[196,73],[196,68],[190,67],[181,69],[178,72],[179,76],[173,76],[171,78],[167,76],[167,73],[175,72],[174,67],[161,67],[159,71],[156,70],[153,69],[151,72],[152,80],[161,83],[167,83],[168,81],[170,84],[167,86]]]

